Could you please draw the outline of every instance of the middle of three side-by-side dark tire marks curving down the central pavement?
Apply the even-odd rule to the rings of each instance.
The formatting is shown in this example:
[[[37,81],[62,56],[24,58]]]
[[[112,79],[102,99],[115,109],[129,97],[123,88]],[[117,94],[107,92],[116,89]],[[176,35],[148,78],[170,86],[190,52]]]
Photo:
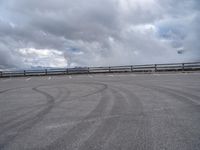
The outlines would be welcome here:
[[[110,135],[117,129],[121,117],[124,115],[125,105],[124,97],[115,88],[110,88],[114,97],[114,105],[109,113],[110,116],[101,121],[95,132],[80,145],[78,149],[103,149],[104,144],[109,139]],[[126,103],[126,102],[125,102]]]

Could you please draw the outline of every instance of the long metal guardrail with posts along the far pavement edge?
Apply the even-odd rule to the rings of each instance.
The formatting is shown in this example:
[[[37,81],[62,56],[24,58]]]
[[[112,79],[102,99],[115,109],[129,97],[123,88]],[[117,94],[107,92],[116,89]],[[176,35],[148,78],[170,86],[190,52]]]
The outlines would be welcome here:
[[[22,71],[0,71],[0,77],[70,75],[70,74],[89,74],[89,73],[120,73],[120,72],[166,72],[166,71],[200,71],[200,62],[110,66],[110,67],[79,67],[79,68],[40,69],[40,70],[22,70]]]

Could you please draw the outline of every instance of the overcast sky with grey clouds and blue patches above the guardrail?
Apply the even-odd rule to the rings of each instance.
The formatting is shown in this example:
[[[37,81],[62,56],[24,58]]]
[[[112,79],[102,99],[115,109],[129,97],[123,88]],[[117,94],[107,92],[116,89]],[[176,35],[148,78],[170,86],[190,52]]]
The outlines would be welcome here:
[[[0,0],[0,69],[200,61],[199,0]]]

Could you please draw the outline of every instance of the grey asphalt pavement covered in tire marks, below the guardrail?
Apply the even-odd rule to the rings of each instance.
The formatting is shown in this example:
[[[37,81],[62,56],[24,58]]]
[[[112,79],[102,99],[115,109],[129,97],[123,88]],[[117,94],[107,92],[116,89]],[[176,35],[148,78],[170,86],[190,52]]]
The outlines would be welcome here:
[[[1,78],[0,150],[200,150],[200,73]]]

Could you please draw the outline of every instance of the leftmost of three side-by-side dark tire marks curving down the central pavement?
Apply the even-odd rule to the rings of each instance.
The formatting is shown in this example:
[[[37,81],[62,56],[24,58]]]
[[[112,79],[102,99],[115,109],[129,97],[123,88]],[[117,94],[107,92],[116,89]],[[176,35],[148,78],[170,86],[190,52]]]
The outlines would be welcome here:
[[[100,121],[86,121],[90,118],[94,118],[98,115],[104,116],[107,115],[109,112],[107,112],[107,108],[109,106],[109,95],[107,95],[108,87],[106,84],[104,84],[104,88],[99,91],[101,94],[101,98],[96,105],[96,107],[87,115],[85,116],[80,123],[73,126],[66,134],[64,134],[62,137],[56,139],[54,142],[52,142],[50,145],[47,145],[44,148],[41,149],[76,149],[80,143],[84,142],[88,135],[92,134],[96,128],[101,123]],[[97,92],[94,92],[94,94],[97,94]],[[87,94],[88,95],[88,94]],[[91,94],[90,94],[91,95]],[[112,107],[112,105],[111,105]]]

